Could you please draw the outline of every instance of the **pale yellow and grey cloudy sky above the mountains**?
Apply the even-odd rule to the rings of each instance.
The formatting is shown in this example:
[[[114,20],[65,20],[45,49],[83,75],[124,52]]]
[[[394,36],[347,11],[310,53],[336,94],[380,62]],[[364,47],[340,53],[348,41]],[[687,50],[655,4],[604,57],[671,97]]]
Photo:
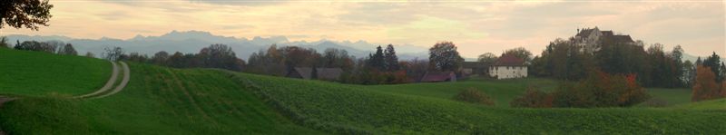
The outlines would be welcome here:
[[[726,55],[722,1],[231,1],[51,0],[50,26],[0,34],[128,39],[172,30],[251,38],[364,40],[431,46],[452,41],[465,57],[523,46],[535,54],[555,38],[597,26],[687,53]]]

